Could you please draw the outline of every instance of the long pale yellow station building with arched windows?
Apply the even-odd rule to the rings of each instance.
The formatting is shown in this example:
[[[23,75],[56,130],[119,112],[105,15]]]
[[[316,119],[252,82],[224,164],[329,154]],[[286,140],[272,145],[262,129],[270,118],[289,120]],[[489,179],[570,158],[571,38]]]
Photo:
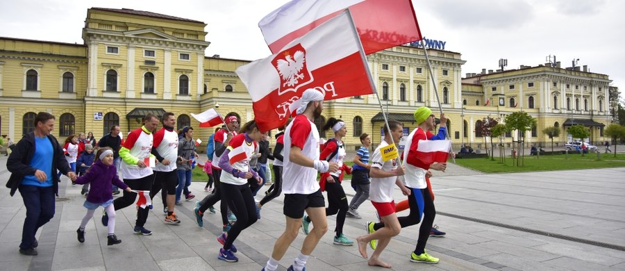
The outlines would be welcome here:
[[[250,61],[204,56],[210,45],[205,27],[192,19],[140,10],[90,8],[84,44],[0,38],[0,134],[21,138],[33,129],[32,118],[39,111],[56,115],[53,133],[59,138],[88,131],[100,138],[113,124],[128,132],[149,112],[175,113],[178,127],[197,127],[190,113],[209,108],[222,115],[235,113],[241,122],[253,120],[251,98],[234,72]],[[344,141],[350,151],[360,146],[360,133],[369,133],[374,145],[380,142],[381,110],[410,131],[416,126],[415,108],[429,106],[438,112],[437,96],[458,149],[460,144],[483,142],[474,133],[477,120],[505,117],[515,110],[526,110],[538,120],[537,136],[526,141],[547,141],[540,130],[555,122],[565,125],[569,118],[606,123],[606,75],[531,67],[462,79],[465,60],[460,53],[428,49],[428,54],[432,75],[421,48],[399,46],[367,56],[381,103],[376,95],[327,101],[315,123],[322,126],[329,117],[347,122]],[[498,104],[500,97],[503,106]],[[533,97],[535,108],[528,108],[528,97]],[[581,105],[585,99],[588,110],[565,109],[562,99],[567,97],[572,103],[580,99]],[[510,99],[517,107],[507,106]],[[204,139],[213,129],[195,133]],[[333,136],[330,131],[321,133]],[[595,131],[592,140],[603,140],[599,133]]]

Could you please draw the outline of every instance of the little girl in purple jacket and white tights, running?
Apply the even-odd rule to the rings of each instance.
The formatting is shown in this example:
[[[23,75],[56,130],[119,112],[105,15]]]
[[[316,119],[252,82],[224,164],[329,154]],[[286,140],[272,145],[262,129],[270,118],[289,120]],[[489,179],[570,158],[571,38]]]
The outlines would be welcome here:
[[[78,242],[85,243],[85,227],[93,217],[95,210],[102,206],[108,215],[107,245],[122,243],[122,240],[117,239],[117,236],[115,236],[115,207],[113,206],[113,195],[110,191],[113,188],[112,184],[126,190],[126,192],[131,192],[131,188],[128,188],[126,183],[123,183],[117,177],[117,168],[113,165],[113,149],[109,147],[99,149],[96,154],[96,161],[84,176],[76,179],[76,183],[91,183],[91,190],[83,204],[87,208],[87,214],[83,217],[81,226],[76,230]]]

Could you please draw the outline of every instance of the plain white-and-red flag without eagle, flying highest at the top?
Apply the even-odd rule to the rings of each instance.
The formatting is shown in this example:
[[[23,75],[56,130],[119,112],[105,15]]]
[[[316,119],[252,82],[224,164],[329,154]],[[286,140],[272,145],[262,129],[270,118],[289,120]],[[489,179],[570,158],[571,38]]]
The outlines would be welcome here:
[[[293,0],[258,23],[272,53],[349,8],[365,54],[421,40],[411,0]]]

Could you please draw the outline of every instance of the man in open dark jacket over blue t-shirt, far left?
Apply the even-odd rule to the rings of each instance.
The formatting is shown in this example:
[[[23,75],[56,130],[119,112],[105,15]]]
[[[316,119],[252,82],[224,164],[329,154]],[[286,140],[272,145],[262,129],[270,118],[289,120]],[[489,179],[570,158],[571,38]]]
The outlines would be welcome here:
[[[72,181],[76,180],[76,173],[63,155],[63,147],[50,134],[54,122],[55,117],[50,113],[37,114],[34,131],[17,142],[6,162],[6,168],[11,172],[6,187],[11,189],[11,196],[19,190],[26,207],[22,243],[19,244],[19,253],[24,255],[38,254],[35,233],[54,217],[54,196],[58,196],[60,181],[56,170],[67,174]]]

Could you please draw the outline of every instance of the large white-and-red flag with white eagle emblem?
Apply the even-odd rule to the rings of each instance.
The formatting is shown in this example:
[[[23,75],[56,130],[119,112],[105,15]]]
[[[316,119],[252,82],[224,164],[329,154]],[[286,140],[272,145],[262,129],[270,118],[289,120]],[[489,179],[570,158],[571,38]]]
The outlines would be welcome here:
[[[309,88],[323,92],[326,100],[374,93],[361,48],[345,11],[278,53],[239,67],[260,131],[285,124]]]

